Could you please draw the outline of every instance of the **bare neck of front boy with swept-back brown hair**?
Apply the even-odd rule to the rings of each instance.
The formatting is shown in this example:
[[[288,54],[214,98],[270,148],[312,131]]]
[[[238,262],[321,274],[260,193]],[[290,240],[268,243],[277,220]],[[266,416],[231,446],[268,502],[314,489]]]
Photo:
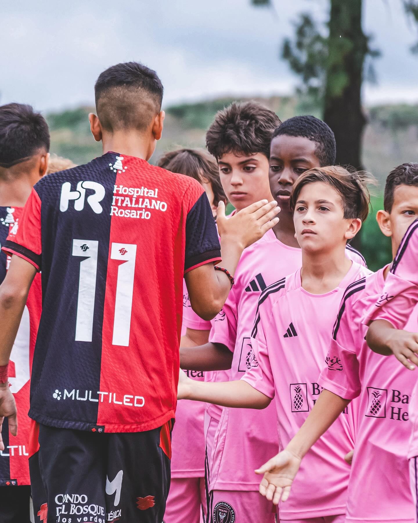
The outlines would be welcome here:
[[[345,256],[345,245],[331,252],[302,251],[301,285],[312,294],[326,294],[340,285],[352,264]]]

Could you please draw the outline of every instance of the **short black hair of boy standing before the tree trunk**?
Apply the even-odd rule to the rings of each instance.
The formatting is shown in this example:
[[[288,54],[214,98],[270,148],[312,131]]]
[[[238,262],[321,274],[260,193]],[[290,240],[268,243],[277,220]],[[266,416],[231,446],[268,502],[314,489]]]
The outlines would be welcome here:
[[[315,142],[315,155],[320,166],[334,165],[336,153],[334,133],[322,120],[315,116],[294,116],[277,127],[272,138],[283,134],[308,138]]]

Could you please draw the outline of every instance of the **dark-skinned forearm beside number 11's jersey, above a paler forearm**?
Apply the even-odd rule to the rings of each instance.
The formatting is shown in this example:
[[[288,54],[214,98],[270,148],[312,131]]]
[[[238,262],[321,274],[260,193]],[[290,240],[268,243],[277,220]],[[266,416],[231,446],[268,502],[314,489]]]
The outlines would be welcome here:
[[[180,347],[180,368],[188,370],[227,370],[233,354],[220,343],[206,343],[199,347]]]

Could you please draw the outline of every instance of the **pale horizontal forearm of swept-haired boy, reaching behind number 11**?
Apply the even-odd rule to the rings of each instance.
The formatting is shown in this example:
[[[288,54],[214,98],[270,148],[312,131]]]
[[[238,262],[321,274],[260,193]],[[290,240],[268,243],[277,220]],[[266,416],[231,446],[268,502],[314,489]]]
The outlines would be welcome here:
[[[188,386],[187,400],[214,403],[222,407],[265,408],[271,399],[243,380],[208,383],[192,381]]]

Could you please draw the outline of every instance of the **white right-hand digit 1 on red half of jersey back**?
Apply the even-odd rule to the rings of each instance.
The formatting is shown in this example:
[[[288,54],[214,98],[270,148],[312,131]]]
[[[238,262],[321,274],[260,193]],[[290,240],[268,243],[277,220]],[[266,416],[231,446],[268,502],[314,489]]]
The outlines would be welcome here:
[[[118,267],[112,345],[127,347],[131,333],[136,245],[129,243],[112,243],[110,257],[113,260],[124,261],[124,263]]]

